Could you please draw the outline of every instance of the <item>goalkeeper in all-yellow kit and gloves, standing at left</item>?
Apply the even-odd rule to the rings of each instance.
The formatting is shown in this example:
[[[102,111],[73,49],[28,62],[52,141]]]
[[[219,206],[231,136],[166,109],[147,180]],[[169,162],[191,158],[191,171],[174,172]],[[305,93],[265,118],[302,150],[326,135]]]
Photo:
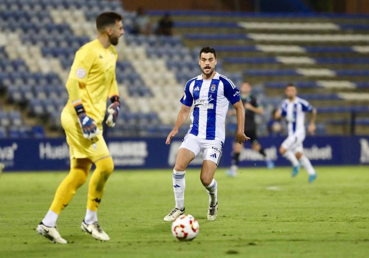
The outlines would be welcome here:
[[[122,17],[113,12],[101,13],[96,18],[96,27],[97,39],[76,52],[66,83],[69,100],[62,111],[61,122],[69,145],[70,172],[59,185],[50,209],[37,226],[38,234],[56,243],[67,243],[56,228],[56,220],[76,190],[87,181],[92,163],[96,169],[89,182],[86,216],[81,229],[98,240],[110,240],[97,221],[97,208],[105,183],[114,169],[102,135],[102,122],[107,98],[111,100],[107,109],[108,126],[115,125],[120,107],[114,45],[124,34]]]

